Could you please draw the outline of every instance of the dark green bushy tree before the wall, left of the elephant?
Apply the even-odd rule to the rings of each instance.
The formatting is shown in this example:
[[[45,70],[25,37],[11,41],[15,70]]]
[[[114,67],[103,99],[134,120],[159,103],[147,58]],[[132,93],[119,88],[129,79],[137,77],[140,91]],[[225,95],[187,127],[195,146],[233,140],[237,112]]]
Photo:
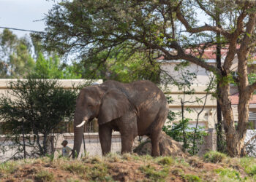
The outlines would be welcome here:
[[[50,134],[72,119],[77,90],[65,90],[56,80],[32,78],[7,87],[10,91],[0,98],[1,127],[7,140],[24,157],[48,154]]]

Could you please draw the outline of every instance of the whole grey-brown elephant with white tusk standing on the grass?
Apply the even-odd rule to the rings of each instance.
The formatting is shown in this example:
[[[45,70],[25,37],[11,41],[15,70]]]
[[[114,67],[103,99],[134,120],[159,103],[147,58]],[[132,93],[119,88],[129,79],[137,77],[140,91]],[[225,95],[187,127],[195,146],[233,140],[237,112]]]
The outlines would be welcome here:
[[[121,133],[121,153],[131,152],[136,136],[151,138],[152,156],[159,156],[159,134],[167,118],[164,93],[149,81],[123,84],[107,81],[80,90],[75,108],[74,150],[79,154],[85,120],[97,118],[102,154],[111,149],[112,130]],[[75,156],[73,156],[75,157]]]

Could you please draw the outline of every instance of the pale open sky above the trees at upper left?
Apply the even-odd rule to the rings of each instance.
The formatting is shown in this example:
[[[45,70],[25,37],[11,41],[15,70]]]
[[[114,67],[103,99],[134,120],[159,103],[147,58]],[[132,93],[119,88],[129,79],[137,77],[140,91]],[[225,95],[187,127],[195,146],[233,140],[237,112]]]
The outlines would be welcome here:
[[[10,28],[43,31],[44,14],[53,6],[53,1],[46,0],[0,0],[0,26]],[[3,29],[0,28],[0,31]],[[29,32],[13,31],[18,36]]]

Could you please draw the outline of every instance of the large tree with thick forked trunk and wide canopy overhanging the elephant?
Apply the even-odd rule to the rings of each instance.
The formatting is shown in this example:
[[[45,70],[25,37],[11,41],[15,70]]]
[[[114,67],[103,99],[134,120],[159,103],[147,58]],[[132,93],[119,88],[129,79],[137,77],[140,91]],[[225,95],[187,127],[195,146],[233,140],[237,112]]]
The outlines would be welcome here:
[[[249,84],[247,78],[247,63],[255,47],[255,1],[214,2],[61,1],[45,17],[47,33],[41,36],[46,48],[78,52],[85,58],[125,45],[131,50],[158,51],[166,60],[188,60],[211,71],[221,87],[217,100],[224,117],[227,152],[240,157],[245,151],[249,99],[256,88],[256,82]],[[220,25],[212,23],[217,19],[216,8],[221,15]],[[209,18],[204,25],[198,20],[196,9]],[[221,34],[222,44],[228,47],[221,68],[206,63],[202,57],[204,49],[215,44],[216,33]],[[230,68],[236,55],[238,75],[233,76]],[[231,79],[239,90],[238,127],[228,97]]]

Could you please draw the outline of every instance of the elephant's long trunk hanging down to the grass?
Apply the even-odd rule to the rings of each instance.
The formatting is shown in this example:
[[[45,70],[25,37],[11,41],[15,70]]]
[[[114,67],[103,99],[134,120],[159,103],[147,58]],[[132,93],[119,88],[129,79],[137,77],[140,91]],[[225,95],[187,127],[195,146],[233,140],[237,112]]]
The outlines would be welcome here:
[[[85,124],[87,119],[83,116],[83,114],[80,114],[79,111],[75,111],[75,121],[74,121],[74,148],[73,148],[73,154],[72,157],[78,157],[81,144],[83,141],[83,124]]]

